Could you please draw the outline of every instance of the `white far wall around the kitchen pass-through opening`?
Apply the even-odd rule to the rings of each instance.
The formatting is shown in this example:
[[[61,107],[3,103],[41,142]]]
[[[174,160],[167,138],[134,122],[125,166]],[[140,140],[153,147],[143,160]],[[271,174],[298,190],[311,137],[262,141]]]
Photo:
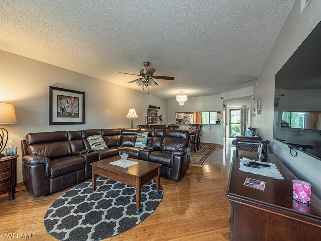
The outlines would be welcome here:
[[[221,111],[223,113],[223,100],[220,95],[187,97],[187,101],[180,106],[175,99],[168,100],[168,123],[176,122],[175,112],[205,112],[205,111]],[[201,142],[216,143],[223,145],[223,116],[221,115],[221,125],[203,126]],[[185,125],[187,127],[187,125]]]

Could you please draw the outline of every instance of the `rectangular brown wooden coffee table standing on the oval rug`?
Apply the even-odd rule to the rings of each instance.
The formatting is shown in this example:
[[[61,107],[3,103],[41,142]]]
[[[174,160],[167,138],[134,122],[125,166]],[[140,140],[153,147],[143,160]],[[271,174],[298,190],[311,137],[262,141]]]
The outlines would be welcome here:
[[[139,159],[128,158],[128,160],[138,162],[128,168],[123,168],[110,164],[121,160],[120,156],[115,156],[98,162],[91,163],[92,170],[92,188],[96,190],[96,175],[108,177],[112,180],[122,182],[132,187],[136,187],[136,213],[141,210],[141,186],[156,177],[156,193],[159,194],[159,184],[161,182],[162,164],[147,162]]]

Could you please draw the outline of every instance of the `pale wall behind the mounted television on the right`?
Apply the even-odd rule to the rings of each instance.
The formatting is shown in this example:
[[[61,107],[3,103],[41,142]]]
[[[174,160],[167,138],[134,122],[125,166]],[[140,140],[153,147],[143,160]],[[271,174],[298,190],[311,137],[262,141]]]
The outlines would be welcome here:
[[[321,1],[311,1],[301,17],[299,6],[300,1],[296,0],[259,75],[258,86],[254,89],[254,103],[257,97],[261,97],[262,114],[254,118],[254,127],[263,139],[271,141],[273,153],[283,160],[299,179],[311,182],[312,191],[321,196],[321,161],[302,152],[298,152],[297,157],[292,157],[287,145],[273,139],[275,74],[321,20]]]

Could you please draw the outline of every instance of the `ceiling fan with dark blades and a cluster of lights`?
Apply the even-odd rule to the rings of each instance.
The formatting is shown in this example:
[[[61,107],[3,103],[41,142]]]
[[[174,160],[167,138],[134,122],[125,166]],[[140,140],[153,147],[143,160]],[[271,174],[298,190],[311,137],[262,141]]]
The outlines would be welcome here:
[[[142,78],[132,80],[132,81],[128,82],[128,84],[136,82],[136,84],[138,86],[142,85],[143,88],[145,89],[145,86],[148,87],[148,85],[150,85],[150,86],[157,86],[158,85],[157,82],[153,79],[174,80],[174,77],[154,75],[156,70],[151,67],[148,68],[149,64],[150,64],[149,62],[144,62],[145,68],[140,70],[140,74],[131,74],[131,75],[141,76]],[[129,73],[123,73],[123,72],[119,72],[119,73],[120,74],[129,74]]]

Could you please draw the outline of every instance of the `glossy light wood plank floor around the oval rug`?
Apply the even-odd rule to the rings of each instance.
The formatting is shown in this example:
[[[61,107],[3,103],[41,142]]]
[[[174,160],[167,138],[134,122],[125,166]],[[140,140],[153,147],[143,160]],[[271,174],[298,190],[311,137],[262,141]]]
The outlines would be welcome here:
[[[156,211],[108,240],[229,240],[230,205],[225,194],[231,152],[231,147],[216,148],[204,167],[190,166],[179,182],[161,178],[164,197]],[[0,195],[0,239],[3,233],[31,232],[38,233],[38,240],[56,240],[46,232],[43,219],[51,204],[69,189],[38,198],[20,190],[13,201]]]

